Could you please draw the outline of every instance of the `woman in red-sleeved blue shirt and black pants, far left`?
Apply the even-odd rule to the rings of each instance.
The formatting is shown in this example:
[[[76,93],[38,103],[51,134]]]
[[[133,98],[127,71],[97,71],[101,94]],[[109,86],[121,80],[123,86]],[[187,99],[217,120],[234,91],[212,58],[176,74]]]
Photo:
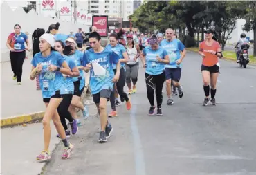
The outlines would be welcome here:
[[[26,50],[30,46],[28,36],[25,33],[21,33],[21,26],[15,24],[14,29],[15,32],[8,36],[6,46],[10,50],[10,64],[13,72],[12,80],[17,80],[17,84],[21,85],[22,66],[26,57]]]

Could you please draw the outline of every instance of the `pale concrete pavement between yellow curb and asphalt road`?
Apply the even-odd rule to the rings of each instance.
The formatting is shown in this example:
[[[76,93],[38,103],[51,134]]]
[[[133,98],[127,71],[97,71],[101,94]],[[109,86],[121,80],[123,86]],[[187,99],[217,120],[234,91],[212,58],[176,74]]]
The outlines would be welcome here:
[[[91,100],[89,100],[91,101]],[[91,125],[91,120],[97,114],[94,104],[89,104],[90,117],[82,125]],[[79,132],[79,131],[78,131]],[[1,175],[37,175],[42,172],[45,163],[38,163],[36,156],[44,149],[44,130],[42,123],[28,124],[26,127],[16,126],[1,129]],[[54,151],[60,139],[56,137],[57,131],[51,122],[51,145]],[[83,135],[83,134],[82,134]],[[71,136],[75,138],[77,136]],[[62,144],[62,143],[60,143]],[[57,155],[61,159],[62,155]],[[54,160],[52,160],[54,161]],[[63,160],[66,161],[66,160]],[[68,161],[68,160],[67,160]]]

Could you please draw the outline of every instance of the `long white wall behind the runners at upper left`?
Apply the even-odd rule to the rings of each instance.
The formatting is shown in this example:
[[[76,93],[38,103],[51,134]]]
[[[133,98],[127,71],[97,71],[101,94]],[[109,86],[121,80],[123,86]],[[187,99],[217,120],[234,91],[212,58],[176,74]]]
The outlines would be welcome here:
[[[1,38],[0,38],[0,49],[1,49],[1,62],[6,62],[10,60],[9,50],[6,47],[6,40],[8,35],[13,32],[15,24],[21,26],[21,32],[28,32],[31,44],[31,35],[36,28],[44,28],[48,30],[48,26],[60,22],[60,33],[68,34],[70,30],[76,32],[78,28],[82,28],[85,31],[89,31],[89,26],[83,24],[71,24],[69,22],[64,22],[57,19],[52,19],[51,17],[42,17],[37,15],[35,10],[30,10],[26,13],[20,6],[12,11],[8,3],[1,3]]]

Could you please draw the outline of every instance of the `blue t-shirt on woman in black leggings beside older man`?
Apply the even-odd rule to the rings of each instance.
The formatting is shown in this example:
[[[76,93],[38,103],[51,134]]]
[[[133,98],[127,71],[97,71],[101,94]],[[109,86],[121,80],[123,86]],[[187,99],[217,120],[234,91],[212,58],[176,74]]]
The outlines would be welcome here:
[[[165,56],[168,55],[168,53],[164,48],[159,46],[158,50],[152,50],[151,46],[147,46],[143,49],[143,55],[145,55],[146,58],[146,73],[149,75],[159,75],[163,73],[165,64],[158,62],[156,56],[165,59]]]

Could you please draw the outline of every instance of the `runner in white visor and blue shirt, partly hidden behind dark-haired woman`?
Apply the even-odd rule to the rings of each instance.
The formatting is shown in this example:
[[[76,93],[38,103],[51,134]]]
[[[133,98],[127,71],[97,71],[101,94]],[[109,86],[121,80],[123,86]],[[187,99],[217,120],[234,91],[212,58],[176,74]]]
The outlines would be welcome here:
[[[65,43],[66,43],[66,46],[71,46],[72,50],[67,53],[64,50],[64,55],[71,57],[71,59],[73,59],[77,68],[80,71],[79,77],[73,77],[73,83],[74,83],[75,89],[73,93],[71,106],[69,107],[68,110],[71,112],[71,115],[73,116],[73,118],[77,120],[77,125],[81,125],[80,119],[78,119],[77,112],[75,111],[75,107],[82,110],[82,115],[84,117],[84,120],[86,120],[88,118],[86,106],[83,106],[80,100],[80,97],[82,95],[82,92],[84,91],[84,86],[85,86],[84,71],[83,71],[84,67],[82,66],[82,59],[83,59],[84,53],[82,53],[80,50],[77,50],[75,39],[73,39],[72,37],[66,39]]]

